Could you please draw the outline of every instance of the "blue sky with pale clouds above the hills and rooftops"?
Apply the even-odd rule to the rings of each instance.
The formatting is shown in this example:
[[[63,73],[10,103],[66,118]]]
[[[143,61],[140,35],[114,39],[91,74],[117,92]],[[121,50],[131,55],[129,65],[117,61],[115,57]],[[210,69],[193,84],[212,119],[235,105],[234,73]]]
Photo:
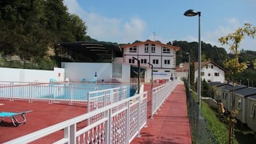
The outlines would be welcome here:
[[[184,16],[188,9],[201,11],[201,40],[227,52],[229,45],[221,45],[220,37],[245,23],[256,27],[256,0],[64,0],[64,4],[85,21],[87,35],[118,44],[147,39],[164,44],[198,42],[199,16]],[[240,49],[256,51],[256,38],[245,37]]]

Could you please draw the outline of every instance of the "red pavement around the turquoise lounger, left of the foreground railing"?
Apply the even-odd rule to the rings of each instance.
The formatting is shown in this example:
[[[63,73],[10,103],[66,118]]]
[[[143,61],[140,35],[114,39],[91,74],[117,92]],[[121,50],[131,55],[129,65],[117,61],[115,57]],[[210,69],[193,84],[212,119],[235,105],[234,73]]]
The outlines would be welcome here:
[[[27,123],[14,127],[10,118],[5,118],[4,122],[0,123],[0,143],[18,138],[22,135],[27,135],[42,128],[47,128],[50,125],[69,120],[72,117],[85,114],[87,112],[86,105],[68,105],[65,103],[48,104],[48,102],[32,102],[28,101],[9,101],[0,100],[0,112],[22,112],[26,110],[33,110],[27,113]],[[1,117],[0,117],[1,121]],[[42,139],[36,140],[34,143],[53,143],[63,137],[63,130],[57,133],[48,135]]]

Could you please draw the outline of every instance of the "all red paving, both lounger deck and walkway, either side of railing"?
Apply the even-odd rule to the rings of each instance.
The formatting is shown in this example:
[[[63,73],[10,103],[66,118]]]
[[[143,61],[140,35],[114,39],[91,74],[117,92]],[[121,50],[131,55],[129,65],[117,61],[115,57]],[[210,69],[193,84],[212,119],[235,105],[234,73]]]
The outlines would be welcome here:
[[[158,85],[154,85],[154,87],[156,86]],[[177,85],[161,110],[158,110],[158,114],[153,116],[153,119],[150,117],[150,87],[151,85],[145,85],[144,87],[148,91],[148,127],[141,130],[141,138],[135,138],[131,143],[191,144],[184,85]],[[5,118],[4,122],[0,123],[0,143],[82,115],[87,112],[87,107],[82,104],[68,105],[63,103],[48,104],[47,102],[29,103],[28,101],[0,100],[1,112],[22,112],[26,110],[33,111],[25,115],[27,117],[25,125],[14,127],[9,118]],[[63,131],[60,131],[33,143],[52,143],[54,140],[60,139],[62,135]]]

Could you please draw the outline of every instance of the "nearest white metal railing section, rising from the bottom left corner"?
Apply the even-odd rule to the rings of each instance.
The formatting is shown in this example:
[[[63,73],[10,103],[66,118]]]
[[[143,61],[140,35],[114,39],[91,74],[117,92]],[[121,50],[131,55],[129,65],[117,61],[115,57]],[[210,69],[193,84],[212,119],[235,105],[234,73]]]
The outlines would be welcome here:
[[[146,113],[147,92],[141,92],[125,100],[120,100],[62,123],[10,140],[6,144],[44,140],[45,136],[57,133],[60,130],[64,130],[64,135],[54,143],[127,144],[140,135],[140,130],[146,126]],[[92,119],[94,121],[90,125],[82,123]]]

